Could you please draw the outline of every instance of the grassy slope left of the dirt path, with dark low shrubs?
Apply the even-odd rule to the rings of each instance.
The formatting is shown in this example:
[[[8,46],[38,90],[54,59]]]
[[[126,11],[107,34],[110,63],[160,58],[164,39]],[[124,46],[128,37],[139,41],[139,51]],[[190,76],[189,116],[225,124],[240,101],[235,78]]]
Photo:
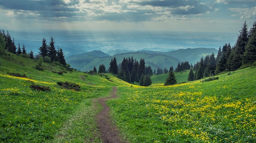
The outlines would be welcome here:
[[[94,119],[101,107],[92,107],[92,99],[108,96],[112,86],[130,84],[111,74],[91,76],[46,63],[47,70],[39,71],[33,68],[37,64],[13,54],[0,58],[0,142],[101,142]],[[9,72],[27,78],[10,76]],[[79,84],[81,91],[63,89],[58,81]],[[32,83],[48,86],[51,91],[32,90]]]

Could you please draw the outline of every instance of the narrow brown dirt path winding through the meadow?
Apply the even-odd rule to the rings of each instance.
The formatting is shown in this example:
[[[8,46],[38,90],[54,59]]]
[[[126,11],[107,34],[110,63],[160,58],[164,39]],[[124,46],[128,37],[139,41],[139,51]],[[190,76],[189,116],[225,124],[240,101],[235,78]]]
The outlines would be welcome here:
[[[103,106],[103,110],[97,115],[98,128],[101,132],[101,140],[103,143],[126,143],[126,141],[121,141],[119,137],[119,131],[117,127],[110,121],[109,111],[110,108],[106,105],[106,101],[112,98],[117,98],[117,87],[113,87],[108,98],[98,98],[97,101]]]

